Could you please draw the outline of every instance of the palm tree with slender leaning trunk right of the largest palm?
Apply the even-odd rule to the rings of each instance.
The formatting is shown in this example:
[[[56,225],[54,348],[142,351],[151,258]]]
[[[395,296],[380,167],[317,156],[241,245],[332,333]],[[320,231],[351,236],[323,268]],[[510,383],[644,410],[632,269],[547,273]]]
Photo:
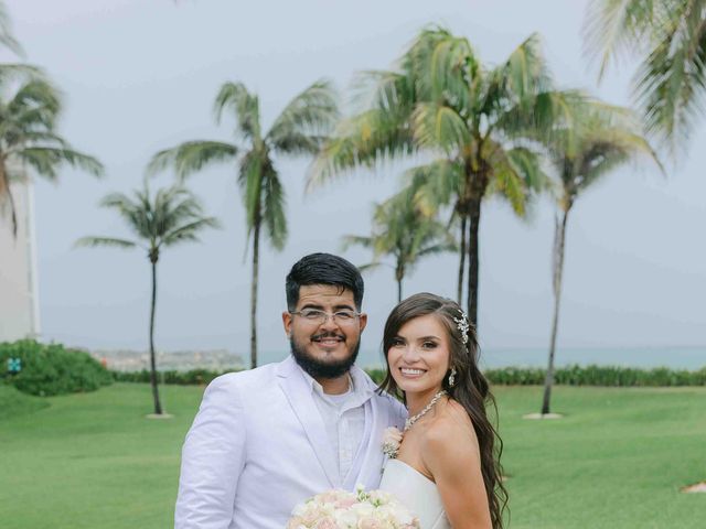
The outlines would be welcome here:
[[[587,188],[627,162],[646,156],[662,170],[655,152],[642,136],[641,126],[633,112],[596,100],[575,101],[571,118],[556,122],[550,139],[545,140],[545,145],[556,176],[557,215],[552,259],[554,316],[542,401],[543,414],[550,412],[569,213]]]

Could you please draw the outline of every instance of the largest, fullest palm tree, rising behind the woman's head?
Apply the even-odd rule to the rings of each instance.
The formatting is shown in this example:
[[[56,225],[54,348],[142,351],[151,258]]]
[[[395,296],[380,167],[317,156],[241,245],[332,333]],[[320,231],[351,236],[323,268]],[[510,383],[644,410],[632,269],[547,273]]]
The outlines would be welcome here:
[[[468,314],[477,323],[481,203],[496,193],[524,213],[543,173],[517,132],[547,130],[566,96],[553,88],[538,37],[484,67],[466,37],[425,29],[395,71],[364,74],[365,91],[367,107],[340,123],[309,186],[410,153],[431,158],[411,170],[425,184],[417,186],[418,202],[429,212],[448,204],[458,218],[459,285],[467,274]]]

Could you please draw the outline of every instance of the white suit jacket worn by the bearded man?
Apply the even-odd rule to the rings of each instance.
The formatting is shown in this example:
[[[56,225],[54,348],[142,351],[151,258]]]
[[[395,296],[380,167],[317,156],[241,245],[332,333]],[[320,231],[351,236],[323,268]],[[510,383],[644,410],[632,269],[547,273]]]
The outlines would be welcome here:
[[[290,356],[216,378],[206,388],[182,451],[175,529],[282,529],[299,503],[332,488],[376,488],[382,434],[402,428],[407,412],[353,367],[371,390],[365,432],[341,483],[311,384]]]

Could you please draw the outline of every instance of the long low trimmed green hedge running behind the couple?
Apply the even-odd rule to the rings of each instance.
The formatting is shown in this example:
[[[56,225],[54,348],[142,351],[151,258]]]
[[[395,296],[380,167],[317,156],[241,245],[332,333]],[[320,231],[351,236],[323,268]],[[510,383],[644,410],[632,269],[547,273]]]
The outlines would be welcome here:
[[[385,377],[384,369],[366,369],[371,378],[379,384]],[[229,371],[161,371],[162,384],[208,384],[218,375]],[[485,377],[491,384],[501,386],[541,386],[544,384],[544,369],[505,367],[486,369]],[[116,380],[126,382],[149,382],[147,370],[137,373],[114,373]],[[697,371],[673,370],[665,367],[655,369],[635,369],[614,366],[568,366],[555,371],[555,384],[565,386],[616,386],[616,387],[656,387],[656,386],[706,386],[706,368]]]

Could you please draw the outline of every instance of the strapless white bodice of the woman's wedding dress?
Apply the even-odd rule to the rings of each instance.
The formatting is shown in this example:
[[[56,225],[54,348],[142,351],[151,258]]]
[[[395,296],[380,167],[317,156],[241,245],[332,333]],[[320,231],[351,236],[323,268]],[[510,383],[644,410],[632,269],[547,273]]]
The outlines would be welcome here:
[[[387,461],[379,488],[414,512],[421,529],[451,529],[436,484],[408,464]]]

